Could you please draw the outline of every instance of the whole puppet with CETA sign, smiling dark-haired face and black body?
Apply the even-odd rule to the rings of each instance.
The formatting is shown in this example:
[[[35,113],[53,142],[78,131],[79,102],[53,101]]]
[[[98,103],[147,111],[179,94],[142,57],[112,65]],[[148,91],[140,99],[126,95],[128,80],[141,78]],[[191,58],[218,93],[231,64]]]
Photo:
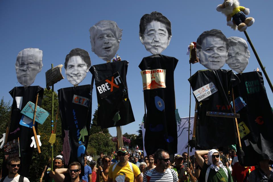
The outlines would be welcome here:
[[[78,84],[91,66],[89,53],[72,49],[65,57],[65,74],[73,87],[58,90],[62,120],[63,155],[65,165],[78,161],[84,169],[84,154],[88,145],[91,123],[92,85]]]

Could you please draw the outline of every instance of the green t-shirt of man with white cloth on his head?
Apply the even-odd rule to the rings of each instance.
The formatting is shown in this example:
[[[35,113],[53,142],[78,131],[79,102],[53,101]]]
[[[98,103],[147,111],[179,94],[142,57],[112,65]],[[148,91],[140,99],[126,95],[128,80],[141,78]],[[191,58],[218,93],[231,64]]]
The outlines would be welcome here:
[[[202,175],[204,177],[204,179],[206,179],[206,172],[208,167],[210,167],[210,165],[206,164],[206,162],[204,162],[203,164],[203,168],[202,168]],[[223,168],[220,168],[217,172],[214,169],[210,169],[210,173],[208,174],[208,182],[233,182],[232,177],[231,177],[231,173],[229,171],[228,168],[226,168],[228,170],[228,177],[226,175],[226,172],[224,171]]]

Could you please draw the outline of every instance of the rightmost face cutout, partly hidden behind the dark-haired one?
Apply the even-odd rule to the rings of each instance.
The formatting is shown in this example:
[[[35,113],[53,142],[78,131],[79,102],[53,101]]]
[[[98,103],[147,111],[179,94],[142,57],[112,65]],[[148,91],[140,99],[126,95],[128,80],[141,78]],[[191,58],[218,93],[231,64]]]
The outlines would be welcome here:
[[[226,63],[232,70],[242,73],[247,67],[250,57],[247,42],[240,37],[229,37],[228,42],[229,49]]]

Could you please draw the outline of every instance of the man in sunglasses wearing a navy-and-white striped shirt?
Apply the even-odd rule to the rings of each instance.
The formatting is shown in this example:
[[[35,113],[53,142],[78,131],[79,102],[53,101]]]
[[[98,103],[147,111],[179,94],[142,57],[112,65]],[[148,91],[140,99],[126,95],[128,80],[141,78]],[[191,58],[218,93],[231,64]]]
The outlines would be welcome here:
[[[166,150],[158,149],[154,153],[154,160],[157,164],[154,169],[148,170],[143,175],[143,182],[177,182],[177,173],[173,169],[169,169],[170,157]]]

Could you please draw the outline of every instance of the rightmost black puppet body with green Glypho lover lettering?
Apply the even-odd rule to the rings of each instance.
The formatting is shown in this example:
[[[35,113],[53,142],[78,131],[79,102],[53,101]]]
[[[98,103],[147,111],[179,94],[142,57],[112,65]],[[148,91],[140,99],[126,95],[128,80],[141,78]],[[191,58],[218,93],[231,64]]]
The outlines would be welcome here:
[[[262,73],[237,74],[240,84],[233,88],[235,111],[244,155],[238,153],[241,166],[255,166],[261,159],[273,161],[273,114]],[[239,146],[236,145],[239,152]],[[253,158],[255,156],[255,158]]]

